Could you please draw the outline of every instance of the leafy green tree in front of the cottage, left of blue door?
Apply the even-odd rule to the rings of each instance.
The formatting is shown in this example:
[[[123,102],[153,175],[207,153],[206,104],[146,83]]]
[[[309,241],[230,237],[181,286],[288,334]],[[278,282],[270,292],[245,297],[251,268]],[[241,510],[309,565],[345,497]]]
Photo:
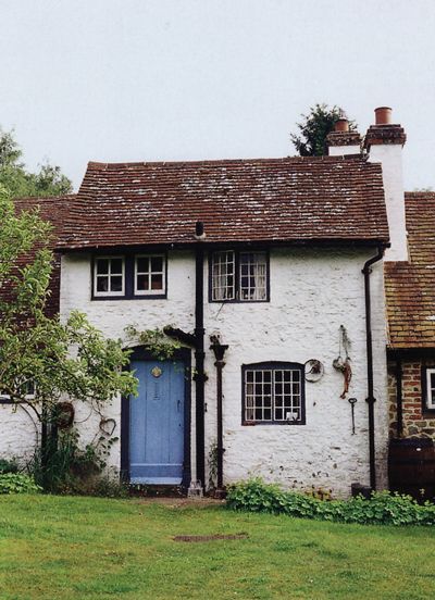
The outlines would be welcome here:
[[[53,254],[51,225],[37,210],[16,213],[0,189],[0,391],[47,425],[65,398],[98,412],[117,393],[136,393],[128,351],[86,316],[46,315]]]

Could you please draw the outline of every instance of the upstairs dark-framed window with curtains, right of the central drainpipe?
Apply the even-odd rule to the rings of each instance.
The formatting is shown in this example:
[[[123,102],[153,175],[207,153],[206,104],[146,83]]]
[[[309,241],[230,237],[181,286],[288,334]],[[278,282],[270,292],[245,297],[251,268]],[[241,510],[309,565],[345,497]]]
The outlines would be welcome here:
[[[268,302],[269,254],[220,250],[210,258],[210,301]]]

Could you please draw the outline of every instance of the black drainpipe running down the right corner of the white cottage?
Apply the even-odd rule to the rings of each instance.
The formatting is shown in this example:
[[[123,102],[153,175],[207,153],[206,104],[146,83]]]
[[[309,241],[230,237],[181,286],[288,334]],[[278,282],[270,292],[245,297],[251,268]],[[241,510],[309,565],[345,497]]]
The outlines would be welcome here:
[[[365,340],[366,340],[366,364],[368,364],[368,397],[369,404],[369,457],[370,457],[370,487],[376,489],[376,462],[374,446],[374,403],[376,398],[373,396],[373,345],[372,345],[372,309],[370,296],[370,274],[372,264],[382,260],[384,257],[384,247],[377,248],[377,254],[369,259],[362,270],[364,275],[365,291]]]

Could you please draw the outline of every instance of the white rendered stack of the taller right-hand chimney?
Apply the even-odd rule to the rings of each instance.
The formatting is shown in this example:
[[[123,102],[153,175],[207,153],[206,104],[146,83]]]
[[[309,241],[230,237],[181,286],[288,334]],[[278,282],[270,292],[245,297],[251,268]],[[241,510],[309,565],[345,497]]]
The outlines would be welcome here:
[[[385,260],[408,261],[402,147],[400,143],[373,145],[370,147],[369,160],[370,162],[382,163],[389,239],[391,242],[391,247],[385,251]]]

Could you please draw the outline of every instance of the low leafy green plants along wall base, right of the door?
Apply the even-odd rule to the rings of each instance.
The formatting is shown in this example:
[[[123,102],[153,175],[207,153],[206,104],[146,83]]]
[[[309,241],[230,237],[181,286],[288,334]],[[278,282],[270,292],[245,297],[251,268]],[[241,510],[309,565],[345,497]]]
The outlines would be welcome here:
[[[229,486],[228,509],[287,514],[320,521],[383,525],[435,525],[435,504],[418,504],[410,496],[389,491],[373,492],[350,500],[320,500],[312,496],[284,491],[278,485],[254,478]]]

